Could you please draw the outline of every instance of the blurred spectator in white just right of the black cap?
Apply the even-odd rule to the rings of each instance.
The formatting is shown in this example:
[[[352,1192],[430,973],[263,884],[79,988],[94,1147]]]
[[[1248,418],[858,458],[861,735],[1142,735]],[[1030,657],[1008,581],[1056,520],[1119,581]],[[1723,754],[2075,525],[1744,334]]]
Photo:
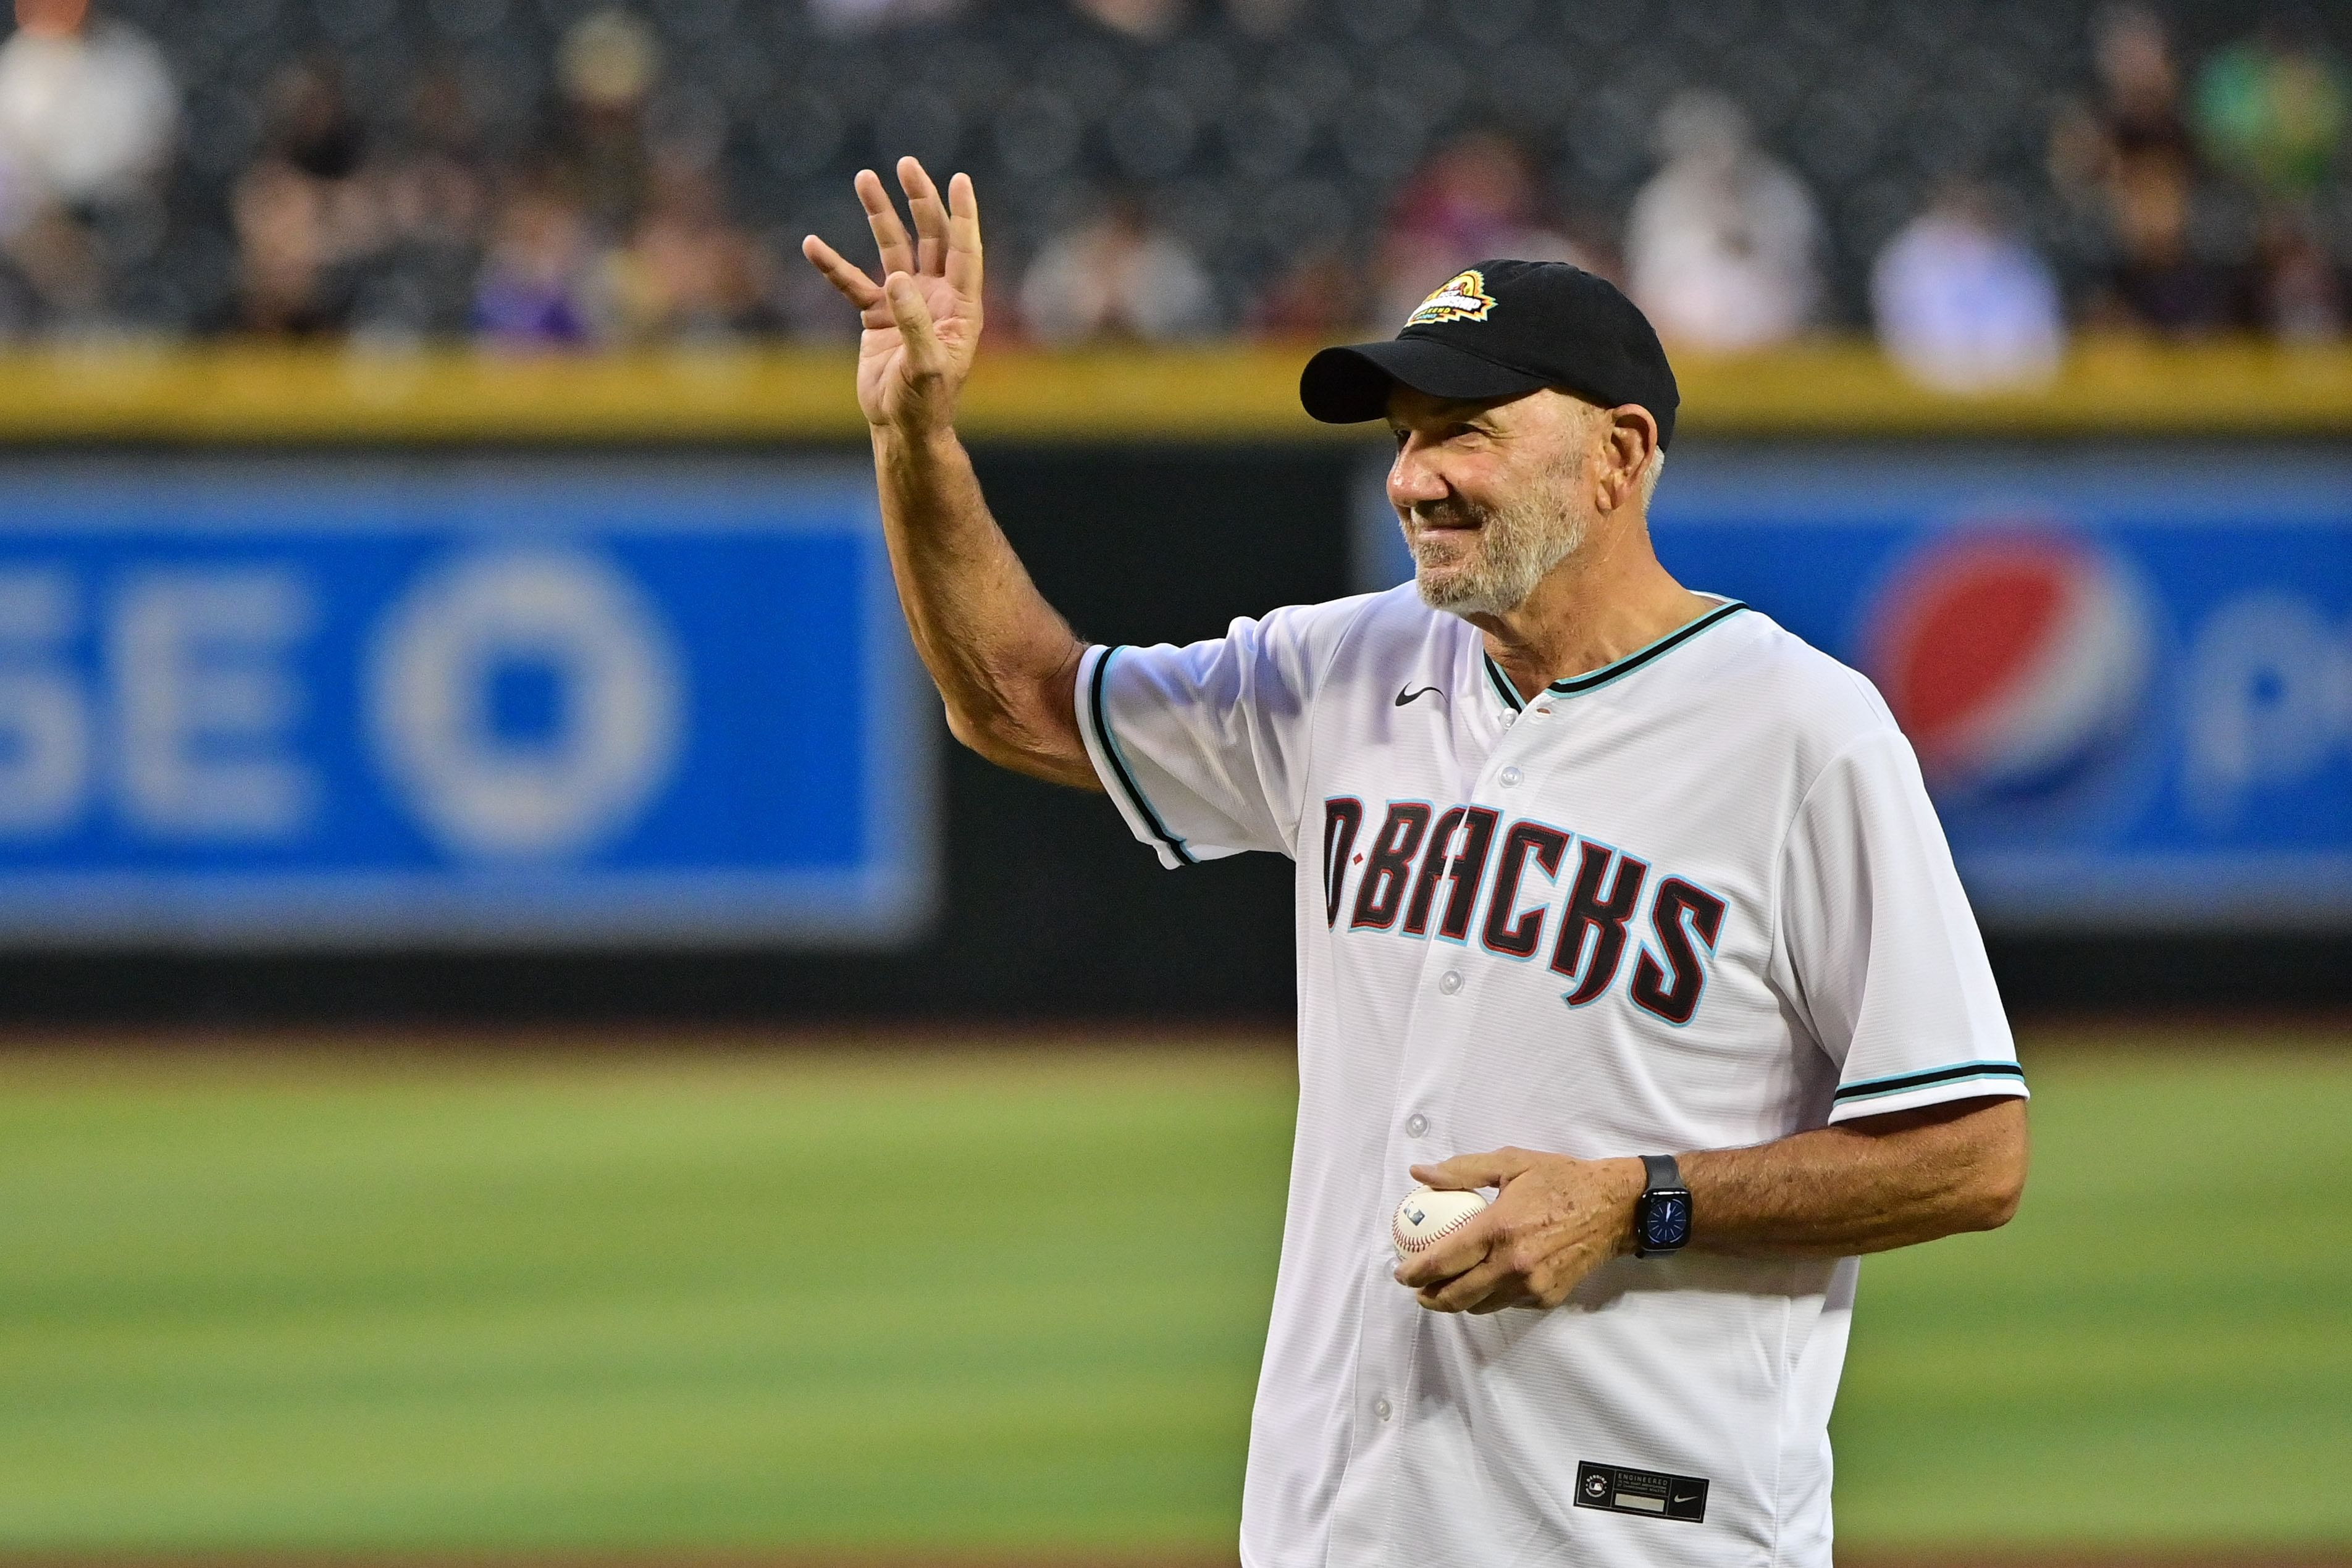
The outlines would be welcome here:
[[[1717,92],[1675,96],[1658,150],[1625,223],[1630,292],[1658,334],[1724,353],[1797,336],[1820,299],[1813,197]]]

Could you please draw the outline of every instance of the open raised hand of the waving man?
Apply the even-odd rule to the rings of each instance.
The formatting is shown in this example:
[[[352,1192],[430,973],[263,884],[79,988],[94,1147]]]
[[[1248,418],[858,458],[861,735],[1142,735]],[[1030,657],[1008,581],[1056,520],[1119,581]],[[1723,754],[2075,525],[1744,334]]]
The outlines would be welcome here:
[[[948,197],[913,158],[898,186],[915,216],[908,240],[882,176],[858,169],[856,190],[882,252],[882,282],[809,235],[800,254],[840,289],[866,334],[858,339],[858,409],[866,423],[903,435],[946,430],[981,348],[981,200],[971,176],[948,181]]]

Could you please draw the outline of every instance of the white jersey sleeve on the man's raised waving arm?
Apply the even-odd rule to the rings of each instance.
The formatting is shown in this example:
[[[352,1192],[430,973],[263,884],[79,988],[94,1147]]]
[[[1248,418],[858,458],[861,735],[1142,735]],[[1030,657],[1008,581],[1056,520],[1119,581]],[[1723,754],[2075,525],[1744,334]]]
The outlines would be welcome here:
[[[1077,668],[1087,757],[1162,865],[1296,853],[1317,682],[1352,604],[1244,616],[1181,649],[1087,649]]]

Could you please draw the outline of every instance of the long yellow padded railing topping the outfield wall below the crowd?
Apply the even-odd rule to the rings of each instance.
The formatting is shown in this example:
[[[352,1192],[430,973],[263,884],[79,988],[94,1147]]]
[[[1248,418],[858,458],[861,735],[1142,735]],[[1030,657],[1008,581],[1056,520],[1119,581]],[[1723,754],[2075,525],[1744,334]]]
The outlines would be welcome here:
[[[981,440],[1348,440],[1298,411],[1305,346],[990,348],[964,397]],[[2352,435],[2352,348],[2093,341],[2049,388],[1952,397],[1875,348],[1679,355],[1682,430],[1879,435]],[[0,355],[0,442],[510,444],[854,442],[849,350],[489,355],[466,348],[139,348]]]

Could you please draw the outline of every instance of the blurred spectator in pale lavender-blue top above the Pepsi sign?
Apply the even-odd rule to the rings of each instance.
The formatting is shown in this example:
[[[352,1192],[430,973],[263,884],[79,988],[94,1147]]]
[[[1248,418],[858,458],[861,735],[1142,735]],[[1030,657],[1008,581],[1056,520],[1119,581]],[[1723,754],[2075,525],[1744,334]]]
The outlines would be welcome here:
[[[2058,280],[1973,181],[1945,188],[1889,240],[1870,303],[1879,346],[1926,386],[1973,393],[2058,371]]]

